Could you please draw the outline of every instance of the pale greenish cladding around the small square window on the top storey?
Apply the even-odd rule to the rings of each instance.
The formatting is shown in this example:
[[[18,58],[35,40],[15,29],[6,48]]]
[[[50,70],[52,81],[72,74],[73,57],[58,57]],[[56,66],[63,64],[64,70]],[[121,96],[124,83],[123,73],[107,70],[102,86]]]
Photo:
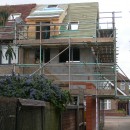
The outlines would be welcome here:
[[[78,29],[65,31],[61,36],[93,37],[96,35],[96,22],[98,18],[98,3],[69,4],[64,23],[79,22]]]

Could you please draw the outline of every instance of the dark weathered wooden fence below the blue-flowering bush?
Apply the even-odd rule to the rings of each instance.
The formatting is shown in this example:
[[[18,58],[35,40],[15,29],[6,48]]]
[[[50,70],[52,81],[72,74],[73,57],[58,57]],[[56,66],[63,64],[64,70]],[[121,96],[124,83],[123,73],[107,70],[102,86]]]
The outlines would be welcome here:
[[[84,108],[58,112],[44,101],[0,97],[0,130],[84,130]]]

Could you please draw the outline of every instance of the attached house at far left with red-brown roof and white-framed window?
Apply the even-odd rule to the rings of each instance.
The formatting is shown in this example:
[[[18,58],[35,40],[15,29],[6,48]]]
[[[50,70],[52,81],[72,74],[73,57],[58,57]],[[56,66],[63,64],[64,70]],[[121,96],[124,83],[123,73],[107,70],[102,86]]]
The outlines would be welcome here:
[[[12,71],[18,73],[18,69],[14,67],[14,63],[18,63],[18,47],[16,46],[17,36],[15,35],[15,22],[18,24],[25,23],[26,17],[30,14],[36,4],[24,4],[24,5],[11,5],[11,6],[0,6],[2,9],[8,11],[8,19],[5,23],[5,26],[0,27],[0,48],[2,54],[0,54],[0,76],[10,75]],[[18,19],[18,17],[20,17]],[[6,58],[5,53],[8,49],[8,45],[11,44],[12,48],[16,53],[16,57],[13,56],[13,59]]]

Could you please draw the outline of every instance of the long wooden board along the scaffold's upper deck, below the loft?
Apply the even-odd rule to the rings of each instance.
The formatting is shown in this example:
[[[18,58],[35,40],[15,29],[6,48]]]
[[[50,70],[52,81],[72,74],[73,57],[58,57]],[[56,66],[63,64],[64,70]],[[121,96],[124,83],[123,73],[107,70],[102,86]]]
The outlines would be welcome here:
[[[29,40],[17,40],[18,44],[21,45],[39,45],[40,39],[29,39]],[[42,45],[51,45],[51,44],[68,44],[69,38],[64,39],[42,39]],[[96,43],[113,43],[113,38],[70,38],[71,45],[82,45],[84,44],[96,44]]]

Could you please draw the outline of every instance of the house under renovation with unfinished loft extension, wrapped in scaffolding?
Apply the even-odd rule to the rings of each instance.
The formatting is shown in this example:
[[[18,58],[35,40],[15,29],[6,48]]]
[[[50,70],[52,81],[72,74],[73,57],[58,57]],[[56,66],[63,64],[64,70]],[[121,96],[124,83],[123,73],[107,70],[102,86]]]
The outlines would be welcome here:
[[[11,69],[22,75],[44,74],[70,90],[78,104],[86,103],[86,130],[101,129],[100,102],[117,96],[114,12],[108,28],[108,22],[100,23],[106,14],[100,17],[97,2],[13,7],[21,8],[14,8],[13,37],[9,39],[17,48],[17,58],[10,62],[13,66],[2,60],[0,74],[9,74]],[[1,46],[8,40],[2,35],[1,31]]]

